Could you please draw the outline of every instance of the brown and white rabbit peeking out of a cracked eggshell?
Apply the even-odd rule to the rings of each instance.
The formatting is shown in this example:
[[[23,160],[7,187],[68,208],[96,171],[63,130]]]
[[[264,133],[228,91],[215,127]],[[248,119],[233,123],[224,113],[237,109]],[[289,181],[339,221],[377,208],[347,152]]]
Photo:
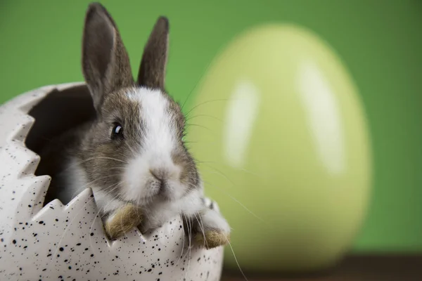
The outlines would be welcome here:
[[[146,233],[180,214],[193,242],[208,249],[229,242],[229,224],[205,202],[184,143],[181,107],[165,90],[168,19],[155,23],[136,81],[117,25],[101,4],[89,4],[82,41],[82,72],[96,117],[53,138],[40,153],[39,172],[51,176],[46,202],[67,204],[91,188],[110,239],[134,227]]]

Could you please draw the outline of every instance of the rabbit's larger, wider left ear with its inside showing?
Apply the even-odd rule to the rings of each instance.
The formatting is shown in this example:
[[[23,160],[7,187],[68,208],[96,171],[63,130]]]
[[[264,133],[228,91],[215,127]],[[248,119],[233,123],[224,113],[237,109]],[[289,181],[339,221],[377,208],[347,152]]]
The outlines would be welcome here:
[[[82,72],[97,111],[108,93],[134,84],[129,56],[117,26],[98,3],[90,4],[85,16]]]

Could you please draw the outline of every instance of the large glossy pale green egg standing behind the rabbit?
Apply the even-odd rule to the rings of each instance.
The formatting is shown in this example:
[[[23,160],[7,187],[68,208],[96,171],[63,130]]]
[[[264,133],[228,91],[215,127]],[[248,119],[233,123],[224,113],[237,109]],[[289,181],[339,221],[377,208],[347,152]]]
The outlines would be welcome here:
[[[369,202],[370,140],[324,41],[292,25],[241,34],[187,111],[188,146],[243,270],[318,270],[350,249]],[[238,267],[231,247],[225,259]]]

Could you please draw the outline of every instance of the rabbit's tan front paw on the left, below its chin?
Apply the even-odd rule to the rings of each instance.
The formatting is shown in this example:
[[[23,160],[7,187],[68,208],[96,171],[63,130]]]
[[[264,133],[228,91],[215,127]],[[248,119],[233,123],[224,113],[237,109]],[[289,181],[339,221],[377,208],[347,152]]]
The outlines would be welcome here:
[[[141,211],[132,204],[126,204],[107,218],[104,228],[108,237],[111,240],[116,240],[136,228],[140,222]]]

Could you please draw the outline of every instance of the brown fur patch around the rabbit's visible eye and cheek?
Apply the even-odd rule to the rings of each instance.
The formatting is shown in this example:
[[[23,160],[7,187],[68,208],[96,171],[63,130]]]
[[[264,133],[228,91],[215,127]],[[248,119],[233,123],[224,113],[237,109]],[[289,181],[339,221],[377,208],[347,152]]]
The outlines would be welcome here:
[[[119,197],[123,169],[142,143],[141,105],[127,98],[121,89],[110,94],[103,103],[103,110],[84,136],[77,152],[89,181],[113,197]],[[123,138],[113,140],[111,133],[115,123],[122,126]],[[141,128],[141,129],[139,129]]]

